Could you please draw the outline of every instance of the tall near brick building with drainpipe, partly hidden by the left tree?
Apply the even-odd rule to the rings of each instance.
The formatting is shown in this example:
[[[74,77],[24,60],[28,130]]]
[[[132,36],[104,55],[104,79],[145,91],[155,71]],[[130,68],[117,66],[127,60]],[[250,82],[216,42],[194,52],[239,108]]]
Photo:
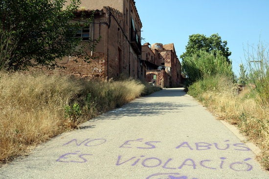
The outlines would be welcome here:
[[[134,0],[81,0],[80,6],[80,12],[86,15],[95,12],[90,27],[84,27],[77,35],[83,40],[101,40],[90,52],[95,59],[87,63],[66,57],[60,61],[66,67],[63,72],[101,80],[120,75],[143,78],[144,67],[139,60],[142,23]]]

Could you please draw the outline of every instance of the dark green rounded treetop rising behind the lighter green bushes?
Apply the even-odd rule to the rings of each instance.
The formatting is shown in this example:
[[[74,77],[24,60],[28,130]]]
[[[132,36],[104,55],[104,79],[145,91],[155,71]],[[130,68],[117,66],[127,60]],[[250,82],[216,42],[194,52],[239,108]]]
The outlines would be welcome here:
[[[212,34],[210,37],[206,37],[201,34],[193,34],[189,36],[188,44],[186,45],[186,52],[180,55],[180,58],[184,60],[188,56],[198,53],[200,50],[213,53],[215,56],[217,53],[224,56],[226,61],[229,60],[231,52],[227,47],[227,41],[222,41],[219,34]]]

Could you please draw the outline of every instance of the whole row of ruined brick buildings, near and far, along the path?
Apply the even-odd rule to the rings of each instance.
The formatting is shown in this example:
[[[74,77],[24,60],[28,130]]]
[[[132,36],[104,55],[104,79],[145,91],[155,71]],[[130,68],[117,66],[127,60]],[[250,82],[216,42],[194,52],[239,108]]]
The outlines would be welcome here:
[[[76,13],[93,17],[90,26],[82,25],[76,37],[88,42],[101,40],[88,52],[93,57],[90,63],[66,57],[59,61],[66,67],[61,72],[99,80],[124,76],[160,87],[179,86],[180,62],[174,44],[141,45],[142,23],[134,0],[81,0]]]

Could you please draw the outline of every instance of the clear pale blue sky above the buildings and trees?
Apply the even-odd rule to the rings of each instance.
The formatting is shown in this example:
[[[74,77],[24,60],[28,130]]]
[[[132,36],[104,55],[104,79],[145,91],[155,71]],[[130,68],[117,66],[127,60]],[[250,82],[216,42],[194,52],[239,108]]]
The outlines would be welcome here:
[[[245,63],[244,49],[269,44],[269,0],[135,0],[142,44],[174,43],[178,57],[189,36],[218,33],[232,52],[233,71]]]

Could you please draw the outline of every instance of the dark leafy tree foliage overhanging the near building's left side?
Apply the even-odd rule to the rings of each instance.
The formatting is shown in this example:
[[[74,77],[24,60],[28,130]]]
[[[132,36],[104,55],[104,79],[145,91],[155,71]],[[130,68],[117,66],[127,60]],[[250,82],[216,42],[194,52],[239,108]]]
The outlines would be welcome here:
[[[81,57],[84,45],[73,38],[81,24],[71,23],[80,2],[69,1],[64,8],[66,0],[1,0],[0,69],[54,68],[55,59]]]

